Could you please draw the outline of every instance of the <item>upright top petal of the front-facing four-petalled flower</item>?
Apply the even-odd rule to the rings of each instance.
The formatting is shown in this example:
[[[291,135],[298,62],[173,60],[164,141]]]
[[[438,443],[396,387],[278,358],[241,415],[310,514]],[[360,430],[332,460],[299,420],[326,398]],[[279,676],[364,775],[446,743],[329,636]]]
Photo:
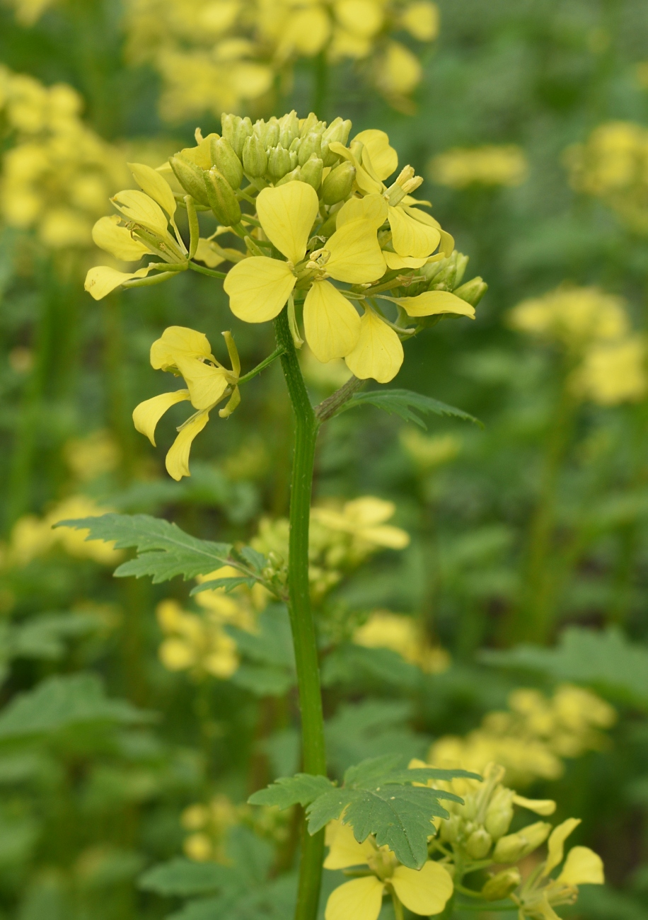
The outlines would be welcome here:
[[[293,265],[306,254],[318,209],[317,192],[307,182],[264,189],[256,199],[256,213],[267,238]]]

